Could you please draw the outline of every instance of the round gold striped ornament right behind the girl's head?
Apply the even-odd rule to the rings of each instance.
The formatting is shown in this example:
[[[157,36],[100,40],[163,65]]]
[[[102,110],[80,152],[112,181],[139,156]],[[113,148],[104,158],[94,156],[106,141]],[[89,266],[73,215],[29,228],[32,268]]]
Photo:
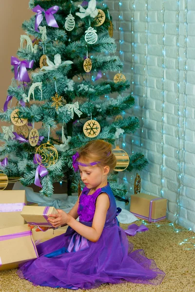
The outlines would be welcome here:
[[[112,152],[115,154],[117,159],[117,165],[115,166],[115,171],[123,171],[127,168],[129,165],[129,156],[127,152],[125,152],[123,149],[120,149],[119,146],[112,150]]]

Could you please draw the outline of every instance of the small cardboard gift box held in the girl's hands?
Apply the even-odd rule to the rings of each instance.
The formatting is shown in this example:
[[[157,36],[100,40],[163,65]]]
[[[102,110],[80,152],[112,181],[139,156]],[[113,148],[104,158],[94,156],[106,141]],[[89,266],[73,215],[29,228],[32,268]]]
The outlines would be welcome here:
[[[49,214],[58,214],[58,211],[56,208],[49,206],[24,206],[20,213],[26,222],[31,225],[51,227],[52,224],[48,221]]]

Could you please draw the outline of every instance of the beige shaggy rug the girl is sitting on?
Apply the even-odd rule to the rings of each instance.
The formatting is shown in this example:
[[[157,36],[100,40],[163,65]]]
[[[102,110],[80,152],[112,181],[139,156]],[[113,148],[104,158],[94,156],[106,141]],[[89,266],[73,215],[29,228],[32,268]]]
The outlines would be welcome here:
[[[135,222],[140,225],[142,222]],[[160,222],[163,226],[148,224],[148,231],[137,233],[135,237],[128,237],[135,249],[143,249],[148,258],[156,261],[157,267],[164,271],[166,276],[158,286],[124,283],[119,285],[103,284],[97,289],[77,290],[78,292],[195,292],[195,249],[189,244],[179,245],[187,237],[195,236],[194,232],[182,231],[176,233],[167,221]],[[121,224],[127,229],[129,224]],[[176,225],[177,228],[180,226]],[[195,239],[194,239],[195,243]],[[0,272],[0,292],[70,292],[69,289],[54,289],[49,287],[33,286],[22,280],[16,270]]]

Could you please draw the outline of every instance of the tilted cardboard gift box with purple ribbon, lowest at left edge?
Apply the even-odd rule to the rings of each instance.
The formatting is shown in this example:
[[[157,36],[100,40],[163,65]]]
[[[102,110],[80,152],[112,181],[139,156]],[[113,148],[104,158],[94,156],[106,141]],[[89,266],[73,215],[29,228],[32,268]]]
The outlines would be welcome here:
[[[0,229],[0,271],[16,269],[20,263],[37,257],[28,224]]]

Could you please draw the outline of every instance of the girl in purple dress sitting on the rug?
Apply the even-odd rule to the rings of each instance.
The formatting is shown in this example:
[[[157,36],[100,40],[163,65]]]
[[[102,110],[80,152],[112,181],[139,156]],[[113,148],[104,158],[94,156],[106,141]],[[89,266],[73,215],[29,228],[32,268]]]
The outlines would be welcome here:
[[[39,258],[20,266],[18,274],[34,285],[91,289],[102,283],[160,284],[164,272],[143,250],[133,250],[119,227],[115,197],[107,182],[116,166],[112,146],[93,140],[73,156],[73,167],[85,184],[67,214],[49,215],[54,227],[69,225],[65,234],[37,246]],[[76,220],[79,216],[79,222]]]

